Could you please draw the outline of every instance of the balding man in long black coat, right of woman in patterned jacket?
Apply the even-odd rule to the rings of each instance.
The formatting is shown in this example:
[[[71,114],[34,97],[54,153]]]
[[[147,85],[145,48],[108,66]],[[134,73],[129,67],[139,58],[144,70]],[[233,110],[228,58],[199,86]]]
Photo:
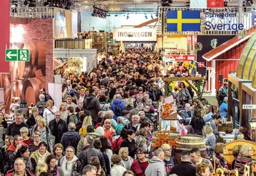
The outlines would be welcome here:
[[[67,123],[61,119],[61,113],[55,113],[55,119],[49,122],[51,134],[55,136],[55,144],[61,141],[62,135],[67,132]]]

